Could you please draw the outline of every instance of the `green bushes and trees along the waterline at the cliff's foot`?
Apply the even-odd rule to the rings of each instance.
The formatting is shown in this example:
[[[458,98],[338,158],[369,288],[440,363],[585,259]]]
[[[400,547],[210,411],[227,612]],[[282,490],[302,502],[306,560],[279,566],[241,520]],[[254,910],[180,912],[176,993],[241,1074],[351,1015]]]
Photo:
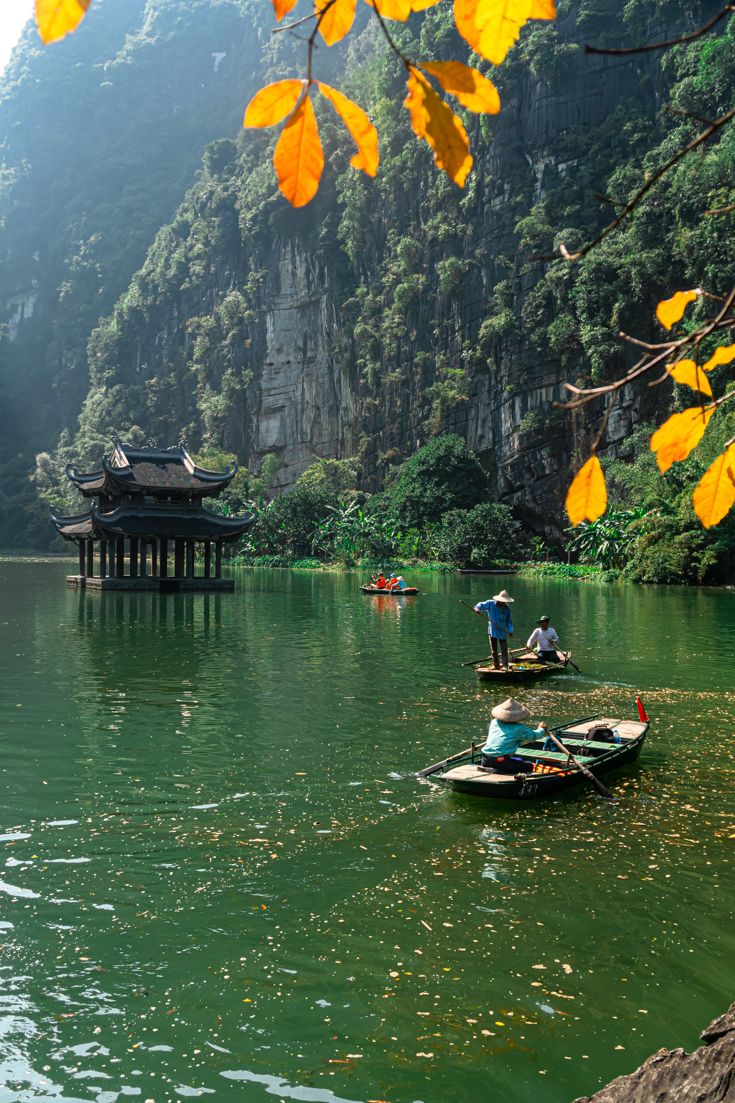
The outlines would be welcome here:
[[[194,457],[211,470],[235,459],[211,449]],[[225,553],[232,566],[414,574],[515,568],[585,581],[732,586],[735,516],[712,529],[700,524],[691,484],[701,462],[677,464],[682,470],[664,476],[650,452],[632,464],[610,463],[608,484],[617,496],[598,521],[575,528],[490,501],[487,472],[454,435],[433,438],[388,470],[374,493],[356,486],[356,461],[332,459],[317,460],[288,492],[278,492],[279,461],[268,456],[259,475],[238,470],[206,504],[225,516],[255,513]],[[40,491],[77,512],[66,483],[49,482]],[[53,545],[51,554],[61,550]]]

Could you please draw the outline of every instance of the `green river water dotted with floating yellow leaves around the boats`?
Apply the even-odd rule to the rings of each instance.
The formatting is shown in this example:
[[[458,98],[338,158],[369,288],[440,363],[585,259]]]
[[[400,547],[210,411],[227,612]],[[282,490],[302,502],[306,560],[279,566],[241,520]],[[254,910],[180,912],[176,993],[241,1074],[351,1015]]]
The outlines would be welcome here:
[[[67,570],[0,563],[0,1103],[568,1103],[735,997],[735,591]],[[535,717],[642,694],[618,802],[409,777],[483,737],[493,581],[583,671]]]

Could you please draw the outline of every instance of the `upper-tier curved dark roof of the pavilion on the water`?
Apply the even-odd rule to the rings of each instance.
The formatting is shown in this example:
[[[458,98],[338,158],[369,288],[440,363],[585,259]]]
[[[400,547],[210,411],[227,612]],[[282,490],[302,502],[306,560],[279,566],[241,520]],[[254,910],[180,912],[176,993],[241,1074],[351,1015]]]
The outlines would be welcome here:
[[[66,476],[87,497],[106,494],[115,497],[125,491],[143,491],[149,494],[179,491],[215,495],[237,473],[237,463],[225,471],[207,471],[194,463],[183,443],[178,448],[134,448],[115,441],[109,459],[104,459],[98,471],[81,472],[71,464]]]

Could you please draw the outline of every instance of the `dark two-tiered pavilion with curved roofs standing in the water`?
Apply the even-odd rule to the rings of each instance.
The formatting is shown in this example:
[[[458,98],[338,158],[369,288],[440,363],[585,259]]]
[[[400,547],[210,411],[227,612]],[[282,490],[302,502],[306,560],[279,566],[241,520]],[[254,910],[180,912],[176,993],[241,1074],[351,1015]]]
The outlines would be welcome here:
[[[56,531],[78,546],[79,572],[67,583],[96,590],[233,590],[233,580],[222,577],[223,546],[255,518],[212,513],[202,500],[220,494],[237,464],[206,471],[183,443],[114,445],[98,471],[66,468],[71,482],[92,499],[86,513],[51,514]]]

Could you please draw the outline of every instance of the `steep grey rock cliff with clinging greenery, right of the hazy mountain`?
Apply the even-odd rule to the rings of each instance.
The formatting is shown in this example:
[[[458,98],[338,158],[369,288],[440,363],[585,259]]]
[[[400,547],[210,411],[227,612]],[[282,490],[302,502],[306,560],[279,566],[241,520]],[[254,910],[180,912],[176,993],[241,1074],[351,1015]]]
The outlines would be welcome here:
[[[266,140],[215,142],[92,336],[79,430],[58,460],[92,460],[113,431],[183,435],[254,471],[276,454],[283,488],[317,457],[356,456],[374,489],[430,435],[456,431],[497,497],[532,527],[554,527],[600,409],[572,418],[552,403],[565,379],[619,372],[617,328],[648,329],[668,290],[661,272],[686,271],[664,234],[635,257],[635,281],[625,236],[575,271],[534,259],[603,225],[609,206],[595,191],[621,202],[661,141],[672,67],[658,55],[586,57],[580,45],[656,35],[661,11],[656,0],[605,0],[594,14],[567,3],[556,24],[526,33],[498,77],[502,115],[468,120],[476,169],[464,192],[409,135],[401,73],[366,26],[347,58],[330,60],[330,77],[381,117],[379,178],[347,167],[347,141],[324,116],[326,179],[292,212]],[[677,14],[684,25],[701,13]],[[462,56],[444,13],[423,25],[422,49]],[[625,453],[662,398],[619,395],[603,454]]]

